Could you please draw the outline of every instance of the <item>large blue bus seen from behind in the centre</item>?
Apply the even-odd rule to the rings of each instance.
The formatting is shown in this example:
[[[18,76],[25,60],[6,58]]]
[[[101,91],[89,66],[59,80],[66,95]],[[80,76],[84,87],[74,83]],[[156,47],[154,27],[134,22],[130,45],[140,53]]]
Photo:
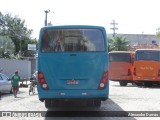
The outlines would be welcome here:
[[[38,96],[45,107],[80,100],[100,107],[108,99],[108,42],[105,28],[47,26],[38,44]]]

